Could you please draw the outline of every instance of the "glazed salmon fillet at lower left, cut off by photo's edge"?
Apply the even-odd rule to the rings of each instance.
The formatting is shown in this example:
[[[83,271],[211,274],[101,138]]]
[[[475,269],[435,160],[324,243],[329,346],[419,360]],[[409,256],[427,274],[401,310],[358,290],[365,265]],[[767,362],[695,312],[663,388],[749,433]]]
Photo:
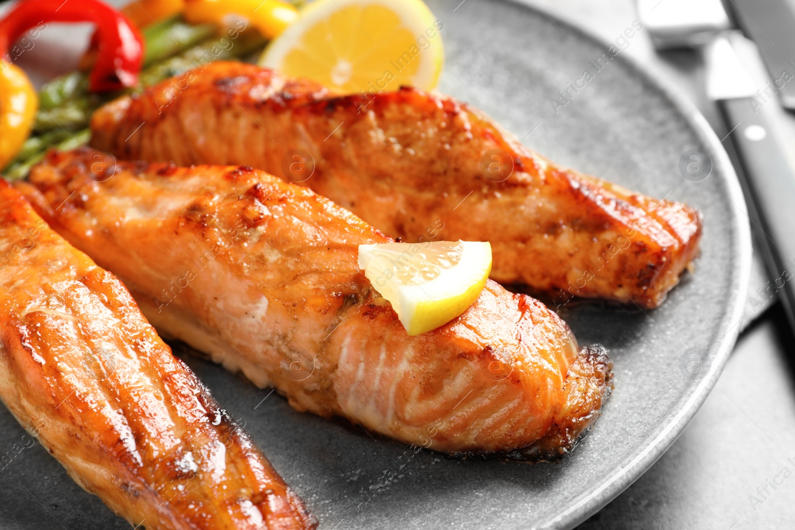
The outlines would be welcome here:
[[[316,528],[122,283],[2,179],[0,398],[136,528]]]

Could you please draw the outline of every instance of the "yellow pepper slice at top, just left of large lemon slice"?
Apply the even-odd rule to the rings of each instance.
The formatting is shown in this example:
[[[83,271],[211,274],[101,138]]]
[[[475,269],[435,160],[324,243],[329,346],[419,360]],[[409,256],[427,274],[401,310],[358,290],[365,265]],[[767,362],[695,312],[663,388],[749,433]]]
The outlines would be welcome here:
[[[263,37],[270,39],[296,20],[298,10],[281,0],[185,0],[185,20],[194,24],[223,24],[229,14],[247,18]]]

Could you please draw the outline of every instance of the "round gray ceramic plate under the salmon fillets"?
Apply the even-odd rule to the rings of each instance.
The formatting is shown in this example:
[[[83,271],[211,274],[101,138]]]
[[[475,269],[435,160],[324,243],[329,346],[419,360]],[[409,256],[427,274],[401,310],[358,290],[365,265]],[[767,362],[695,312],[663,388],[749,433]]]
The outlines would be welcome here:
[[[400,469],[397,457],[405,447],[293,412],[275,393],[186,358],[219,402],[245,422],[321,528],[572,528],[673,443],[714,385],[739,329],[750,236],[735,174],[704,119],[622,53],[609,63],[603,59],[607,66],[597,72],[589,61],[610,44],[529,6],[459,2],[429,2],[444,22],[441,90],[486,110],[555,161],[698,207],[704,212],[703,254],[696,273],[655,311],[597,304],[564,309],[581,343],[601,342],[611,351],[615,393],[588,438],[554,464],[452,460],[421,451]],[[632,38],[626,42],[633,45]],[[585,70],[593,79],[554,109],[551,99]],[[680,171],[691,149],[712,161],[700,182]],[[0,409],[0,451],[12,451],[24,434]],[[0,528],[127,528],[40,446],[6,458]],[[385,470],[397,479],[366,501],[363,489]]]

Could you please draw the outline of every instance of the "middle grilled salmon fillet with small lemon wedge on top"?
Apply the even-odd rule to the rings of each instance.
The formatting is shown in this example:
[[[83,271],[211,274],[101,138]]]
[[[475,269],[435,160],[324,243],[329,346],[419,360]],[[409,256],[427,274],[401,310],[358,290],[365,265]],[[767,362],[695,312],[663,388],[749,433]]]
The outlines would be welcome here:
[[[161,333],[300,411],[452,454],[556,458],[599,416],[603,348],[489,280],[409,336],[357,267],[390,242],[308,188],[246,167],[50,153],[21,184],[60,234],[122,278]]]

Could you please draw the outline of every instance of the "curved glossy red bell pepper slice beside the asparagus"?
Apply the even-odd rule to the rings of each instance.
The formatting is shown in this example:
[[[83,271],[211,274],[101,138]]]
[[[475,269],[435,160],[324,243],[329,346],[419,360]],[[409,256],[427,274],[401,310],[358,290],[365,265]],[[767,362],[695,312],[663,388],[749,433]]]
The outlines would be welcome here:
[[[88,76],[92,91],[111,91],[138,83],[144,41],[130,20],[99,0],[21,0],[0,21],[0,57],[14,41],[43,22],[94,22],[99,53]]]

